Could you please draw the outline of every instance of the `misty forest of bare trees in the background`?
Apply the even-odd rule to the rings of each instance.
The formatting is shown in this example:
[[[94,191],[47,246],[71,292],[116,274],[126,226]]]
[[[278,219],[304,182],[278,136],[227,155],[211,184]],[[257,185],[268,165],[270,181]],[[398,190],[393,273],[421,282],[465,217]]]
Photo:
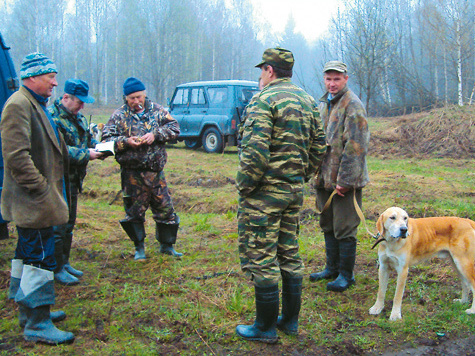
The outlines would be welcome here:
[[[473,0],[340,0],[312,43],[290,9],[282,33],[256,14],[252,0],[0,0],[0,31],[17,71],[27,53],[43,52],[60,86],[84,79],[99,104],[121,102],[129,76],[162,104],[180,83],[257,80],[254,64],[274,46],[294,52],[294,81],[317,99],[323,63],[346,62],[371,115],[475,100]]]

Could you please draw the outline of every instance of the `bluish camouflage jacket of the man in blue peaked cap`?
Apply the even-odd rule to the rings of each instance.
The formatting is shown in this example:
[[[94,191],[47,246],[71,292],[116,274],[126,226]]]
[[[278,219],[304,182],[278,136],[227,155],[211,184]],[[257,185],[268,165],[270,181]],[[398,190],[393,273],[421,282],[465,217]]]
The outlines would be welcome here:
[[[48,107],[48,111],[68,147],[70,182],[81,191],[86,166],[89,163],[89,148],[94,147],[97,142],[89,133],[84,115],[81,113],[73,115],[61,104],[61,98],[56,99]]]

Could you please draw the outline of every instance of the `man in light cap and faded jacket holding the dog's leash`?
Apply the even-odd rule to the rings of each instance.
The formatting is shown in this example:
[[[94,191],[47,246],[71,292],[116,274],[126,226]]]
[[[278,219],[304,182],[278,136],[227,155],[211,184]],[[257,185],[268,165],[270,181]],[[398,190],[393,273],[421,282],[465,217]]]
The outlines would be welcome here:
[[[356,233],[360,219],[362,188],[368,184],[366,154],[369,131],[361,100],[348,89],[346,65],[330,61],[323,68],[327,92],[320,99],[320,115],[328,150],[316,179],[317,206],[323,209],[333,191],[331,204],[320,215],[325,238],[326,267],[312,273],[311,281],[335,279],[327,290],[343,292],[355,283]]]

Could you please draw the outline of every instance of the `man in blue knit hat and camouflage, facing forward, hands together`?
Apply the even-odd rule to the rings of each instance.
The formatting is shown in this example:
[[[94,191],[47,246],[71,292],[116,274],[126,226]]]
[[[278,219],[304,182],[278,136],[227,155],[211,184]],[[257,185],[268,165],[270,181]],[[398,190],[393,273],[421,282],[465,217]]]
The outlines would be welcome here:
[[[125,104],[112,114],[102,136],[103,141],[115,141],[115,158],[121,167],[126,217],[120,223],[134,242],[135,259],[144,260],[145,212],[150,205],[160,252],[180,257],[173,248],[180,219],[163,173],[165,143],[180,134],[178,122],[147,98],[145,85],[137,78],[128,78],[123,89]]]

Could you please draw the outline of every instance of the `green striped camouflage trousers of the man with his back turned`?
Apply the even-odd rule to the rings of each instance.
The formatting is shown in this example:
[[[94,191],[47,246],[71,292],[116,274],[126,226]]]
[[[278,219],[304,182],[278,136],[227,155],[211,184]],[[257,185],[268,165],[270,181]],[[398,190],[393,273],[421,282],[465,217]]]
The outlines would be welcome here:
[[[302,276],[299,211],[303,192],[258,191],[239,198],[238,234],[241,269],[257,286],[274,285],[280,275]]]

